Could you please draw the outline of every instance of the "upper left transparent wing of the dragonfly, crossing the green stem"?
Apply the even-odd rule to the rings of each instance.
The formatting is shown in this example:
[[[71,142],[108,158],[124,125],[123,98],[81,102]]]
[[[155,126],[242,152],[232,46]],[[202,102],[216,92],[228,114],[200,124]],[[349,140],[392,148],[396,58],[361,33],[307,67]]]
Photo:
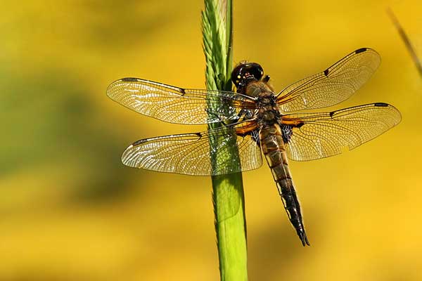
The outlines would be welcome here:
[[[137,78],[114,81],[107,95],[143,115],[177,124],[232,121],[241,108],[255,108],[255,100],[238,93],[182,89]]]

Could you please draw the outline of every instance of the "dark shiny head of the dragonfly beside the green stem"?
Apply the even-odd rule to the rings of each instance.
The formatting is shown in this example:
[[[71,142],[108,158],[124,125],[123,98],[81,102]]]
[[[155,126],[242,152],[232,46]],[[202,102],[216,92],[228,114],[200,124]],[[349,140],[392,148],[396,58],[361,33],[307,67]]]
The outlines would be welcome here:
[[[252,81],[260,81],[264,70],[257,63],[241,62],[231,72],[231,81],[239,90],[243,89]]]

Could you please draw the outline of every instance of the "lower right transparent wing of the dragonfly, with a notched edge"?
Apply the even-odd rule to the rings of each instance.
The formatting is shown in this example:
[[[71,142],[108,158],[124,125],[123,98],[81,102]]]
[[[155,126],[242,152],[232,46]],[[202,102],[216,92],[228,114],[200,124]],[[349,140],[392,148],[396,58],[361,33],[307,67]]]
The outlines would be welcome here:
[[[372,103],[319,114],[284,115],[286,152],[307,161],[352,150],[399,124],[400,112],[386,103]],[[291,131],[290,131],[291,129]]]

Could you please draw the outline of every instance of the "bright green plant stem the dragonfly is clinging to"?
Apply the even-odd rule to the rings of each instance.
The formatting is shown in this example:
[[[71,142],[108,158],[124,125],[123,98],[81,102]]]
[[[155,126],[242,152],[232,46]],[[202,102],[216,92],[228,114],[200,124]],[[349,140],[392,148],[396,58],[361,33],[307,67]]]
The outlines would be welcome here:
[[[231,91],[232,1],[205,0],[202,18],[207,89]],[[210,129],[217,126],[212,124]],[[217,139],[210,146],[217,147],[219,141],[227,140]],[[238,150],[236,145],[232,146],[229,155],[222,155],[218,150],[210,155],[213,166],[224,162],[239,164]],[[224,161],[228,157],[232,161]],[[212,199],[221,280],[248,280],[242,174],[212,176]]]

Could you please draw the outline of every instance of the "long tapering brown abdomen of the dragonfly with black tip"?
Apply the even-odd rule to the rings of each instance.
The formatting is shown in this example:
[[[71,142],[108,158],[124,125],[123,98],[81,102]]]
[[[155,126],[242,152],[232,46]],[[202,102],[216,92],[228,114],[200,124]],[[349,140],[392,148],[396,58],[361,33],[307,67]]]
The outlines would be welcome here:
[[[300,204],[288,169],[286,147],[279,124],[264,126],[260,131],[260,142],[290,223],[298,233],[302,244],[309,245],[302,222]]]

